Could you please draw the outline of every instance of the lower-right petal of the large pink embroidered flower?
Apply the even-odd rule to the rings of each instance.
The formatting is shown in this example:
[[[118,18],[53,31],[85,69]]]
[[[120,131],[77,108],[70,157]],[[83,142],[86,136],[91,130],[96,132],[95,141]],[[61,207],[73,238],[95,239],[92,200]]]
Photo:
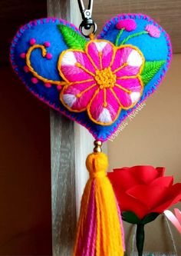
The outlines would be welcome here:
[[[114,85],[113,89],[123,108],[133,107],[142,95],[139,78],[117,79],[117,85]],[[124,90],[128,90],[128,92]]]

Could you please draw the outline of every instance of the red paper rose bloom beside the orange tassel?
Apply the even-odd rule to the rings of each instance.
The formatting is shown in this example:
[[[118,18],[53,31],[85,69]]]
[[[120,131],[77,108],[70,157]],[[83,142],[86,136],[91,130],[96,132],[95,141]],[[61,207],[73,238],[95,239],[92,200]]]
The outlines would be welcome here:
[[[165,168],[134,166],[114,169],[108,174],[121,211],[133,211],[142,219],[151,212],[164,210],[181,200],[181,183],[163,177]]]

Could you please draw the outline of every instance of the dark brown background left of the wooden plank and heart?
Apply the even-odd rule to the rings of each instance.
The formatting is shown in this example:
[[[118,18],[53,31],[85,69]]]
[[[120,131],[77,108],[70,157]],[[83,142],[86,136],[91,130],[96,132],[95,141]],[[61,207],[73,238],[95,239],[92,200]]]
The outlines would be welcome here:
[[[0,1],[0,255],[51,255],[49,109],[8,57],[19,26],[46,15],[46,1]]]

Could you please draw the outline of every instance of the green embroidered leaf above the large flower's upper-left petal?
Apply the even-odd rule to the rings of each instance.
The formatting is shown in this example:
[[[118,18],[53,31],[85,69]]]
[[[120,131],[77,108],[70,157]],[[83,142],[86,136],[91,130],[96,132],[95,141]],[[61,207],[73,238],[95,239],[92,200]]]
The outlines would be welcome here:
[[[64,42],[71,49],[84,50],[86,39],[66,25],[58,25],[58,29],[64,37]]]

